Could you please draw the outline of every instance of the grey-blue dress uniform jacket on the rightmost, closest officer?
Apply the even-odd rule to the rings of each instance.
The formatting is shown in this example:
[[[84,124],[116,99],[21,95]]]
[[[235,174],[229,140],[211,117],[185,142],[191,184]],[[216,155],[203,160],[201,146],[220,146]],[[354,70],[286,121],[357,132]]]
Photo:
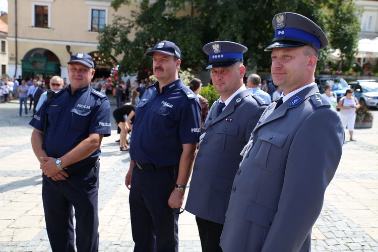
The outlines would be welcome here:
[[[236,173],[223,251],[310,250],[309,230],[341,158],[343,125],[316,85],[276,110],[275,104],[260,119]]]

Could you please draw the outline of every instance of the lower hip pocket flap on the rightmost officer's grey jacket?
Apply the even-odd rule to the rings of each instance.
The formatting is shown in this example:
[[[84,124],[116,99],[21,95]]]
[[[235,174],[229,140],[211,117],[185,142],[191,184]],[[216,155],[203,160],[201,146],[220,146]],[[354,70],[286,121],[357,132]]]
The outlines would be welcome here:
[[[245,219],[260,226],[270,228],[275,215],[276,211],[251,202],[245,214]]]

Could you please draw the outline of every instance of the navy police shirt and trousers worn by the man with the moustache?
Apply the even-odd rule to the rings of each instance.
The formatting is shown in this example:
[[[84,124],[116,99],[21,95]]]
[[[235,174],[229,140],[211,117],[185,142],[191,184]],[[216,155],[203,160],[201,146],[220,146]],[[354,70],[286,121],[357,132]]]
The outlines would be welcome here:
[[[181,78],[161,93],[158,82],[148,87],[136,107],[130,147],[136,162],[130,191],[134,251],[178,251],[178,215],[164,208],[175,188],[182,144],[199,140],[200,111]]]

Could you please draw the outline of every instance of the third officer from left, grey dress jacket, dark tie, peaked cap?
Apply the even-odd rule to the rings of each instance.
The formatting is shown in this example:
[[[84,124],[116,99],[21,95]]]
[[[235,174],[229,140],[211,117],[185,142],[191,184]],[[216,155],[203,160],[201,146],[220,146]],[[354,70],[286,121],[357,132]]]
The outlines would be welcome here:
[[[209,55],[207,69],[220,98],[204,123],[185,210],[196,215],[202,251],[215,252],[222,251],[220,235],[240,152],[266,107],[261,105],[267,103],[243,84],[245,46],[215,41],[203,50]]]

